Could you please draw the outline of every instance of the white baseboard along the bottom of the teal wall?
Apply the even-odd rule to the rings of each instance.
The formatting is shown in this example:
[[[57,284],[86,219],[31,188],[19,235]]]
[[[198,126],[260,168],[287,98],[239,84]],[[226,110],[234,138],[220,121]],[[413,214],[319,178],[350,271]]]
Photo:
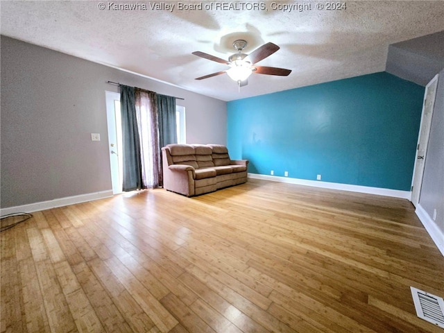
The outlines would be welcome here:
[[[339,189],[341,191],[376,194],[379,196],[392,196],[394,198],[402,198],[407,200],[410,200],[411,198],[410,191],[400,191],[398,189],[382,189],[379,187],[340,184],[338,182],[322,182],[320,180],[305,180],[299,178],[259,175],[257,173],[248,173],[248,178],[271,180],[273,182],[287,182],[289,184],[307,185],[312,187],[322,187],[324,189]]]

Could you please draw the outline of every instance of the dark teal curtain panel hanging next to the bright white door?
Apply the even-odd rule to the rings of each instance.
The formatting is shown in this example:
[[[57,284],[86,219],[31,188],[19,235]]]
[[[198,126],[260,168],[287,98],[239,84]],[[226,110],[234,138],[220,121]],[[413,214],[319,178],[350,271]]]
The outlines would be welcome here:
[[[120,86],[122,118],[123,191],[142,189],[142,161],[135,109],[135,89]]]

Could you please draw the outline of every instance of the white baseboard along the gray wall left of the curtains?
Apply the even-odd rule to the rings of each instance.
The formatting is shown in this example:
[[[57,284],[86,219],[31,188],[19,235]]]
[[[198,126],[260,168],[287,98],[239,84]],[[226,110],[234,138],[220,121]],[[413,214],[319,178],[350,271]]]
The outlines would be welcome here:
[[[67,196],[65,198],[42,201],[40,203],[30,203],[28,205],[0,208],[0,215],[4,216],[15,213],[31,213],[31,212],[37,212],[39,210],[49,210],[51,208],[74,205],[76,203],[85,203],[87,201],[98,200],[103,198],[109,198],[110,196],[112,196],[111,189],[108,191],[80,194],[80,196]]]

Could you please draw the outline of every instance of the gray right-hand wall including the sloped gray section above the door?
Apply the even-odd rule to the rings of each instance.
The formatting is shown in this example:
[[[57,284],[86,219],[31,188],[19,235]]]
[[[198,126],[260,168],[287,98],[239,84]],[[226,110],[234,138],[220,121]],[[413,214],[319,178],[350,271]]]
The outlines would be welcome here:
[[[419,85],[440,74],[419,204],[444,234],[444,31],[388,47],[386,71]]]

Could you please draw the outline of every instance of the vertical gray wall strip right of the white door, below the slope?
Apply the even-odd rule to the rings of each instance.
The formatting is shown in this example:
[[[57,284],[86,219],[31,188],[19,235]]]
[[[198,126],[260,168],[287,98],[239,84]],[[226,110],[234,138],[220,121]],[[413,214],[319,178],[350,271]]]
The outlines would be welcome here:
[[[419,203],[430,217],[436,209],[436,225],[444,234],[444,69],[439,73]]]

